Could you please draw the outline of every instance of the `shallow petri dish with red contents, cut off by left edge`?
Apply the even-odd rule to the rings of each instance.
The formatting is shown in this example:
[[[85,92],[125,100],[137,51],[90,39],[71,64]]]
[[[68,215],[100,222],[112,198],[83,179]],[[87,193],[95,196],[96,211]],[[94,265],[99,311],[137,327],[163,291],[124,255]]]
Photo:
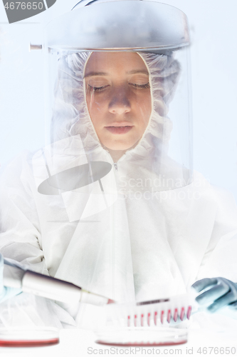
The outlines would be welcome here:
[[[0,328],[1,347],[40,347],[58,343],[58,328]]]

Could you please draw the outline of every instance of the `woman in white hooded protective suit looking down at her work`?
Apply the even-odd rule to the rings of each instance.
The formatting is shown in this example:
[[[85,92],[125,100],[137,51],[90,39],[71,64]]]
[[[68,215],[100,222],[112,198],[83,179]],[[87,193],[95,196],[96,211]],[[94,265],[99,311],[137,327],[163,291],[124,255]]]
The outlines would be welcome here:
[[[233,200],[169,156],[172,51],[73,52],[58,58],[51,144],[2,178],[1,253],[122,302],[237,281]],[[211,284],[211,302],[237,300]],[[84,323],[87,307],[52,306]]]

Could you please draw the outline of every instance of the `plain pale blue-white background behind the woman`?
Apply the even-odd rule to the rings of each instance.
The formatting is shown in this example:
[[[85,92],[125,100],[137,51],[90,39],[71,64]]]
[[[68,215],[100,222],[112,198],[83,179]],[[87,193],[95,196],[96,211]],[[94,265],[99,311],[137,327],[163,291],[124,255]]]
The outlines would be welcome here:
[[[57,0],[50,9],[16,24],[8,24],[0,2],[2,167],[23,149],[44,145],[43,55],[28,52],[28,42],[41,43],[43,24],[70,11],[76,2]],[[178,7],[189,18],[194,169],[232,191],[237,201],[237,1],[162,2]]]

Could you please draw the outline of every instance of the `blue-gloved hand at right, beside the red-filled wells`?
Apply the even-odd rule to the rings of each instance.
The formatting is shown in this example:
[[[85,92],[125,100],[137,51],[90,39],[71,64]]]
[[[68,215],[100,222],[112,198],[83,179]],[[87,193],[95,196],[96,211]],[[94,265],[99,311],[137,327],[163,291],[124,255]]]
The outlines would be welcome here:
[[[205,290],[196,297],[196,301],[201,306],[208,306],[207,310],[211,313],[224,306],[237,309],[237,283],[233,281],[226,278],[205,278],[196,281],[192,287],[197,293]]]

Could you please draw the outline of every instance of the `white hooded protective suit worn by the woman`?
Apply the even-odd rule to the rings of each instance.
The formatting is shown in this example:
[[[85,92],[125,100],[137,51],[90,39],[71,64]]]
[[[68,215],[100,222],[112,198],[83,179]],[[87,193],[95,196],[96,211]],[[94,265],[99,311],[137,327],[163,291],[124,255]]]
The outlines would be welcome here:
[[[113,163],[85,102],[88,54],[61,56],[53,144],[33,155],[23,154],[1,177],[4,257],[116,301],[184,293],[199,278],[237,281],[233,198],[199,173],[184,186],[186,169],[166,154],[172,124],[162,113],[172,99],[179,64],[172,56],[141,56],[150,74],[152,114],[135,148]],[[158,79],[164,76],[161,109]],[[73,98],[68,86],[73,86]],[[38,192],[49,176],[94,161],[111,164],[101,180],[70,190],[49,188],[51,194]],[[168,178],[173,186],[167,186]],[[11,306],[20,299],[12,299]],[[73,325],[73,318],[80,326],[80,306],[63,308],[69,313],[55,303],[48,307],[56,326],[59,321]],[[2,311],[0,307],[2,323],[10,324]]]

